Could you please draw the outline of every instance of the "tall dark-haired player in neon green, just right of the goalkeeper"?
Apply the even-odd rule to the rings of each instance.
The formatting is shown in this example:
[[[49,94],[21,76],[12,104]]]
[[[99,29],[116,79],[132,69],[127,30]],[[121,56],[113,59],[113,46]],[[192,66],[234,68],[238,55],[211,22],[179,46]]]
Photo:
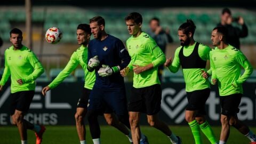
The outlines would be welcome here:
[[[157,117],[162,98],[157,67],[163,65],[165,55],[154,39],[141,30],[140,13],[130,13],[125,17],[125,22],[129,34],[132,35],[126,41],[132,60],[120,73],[126,76],[129,71],[134,72],[132,95],[128,106],[133,143],[138,144],[140,140],[140,113],[146,113],[149,125],[166,134],[172,143],[181,143],[181,139]]]

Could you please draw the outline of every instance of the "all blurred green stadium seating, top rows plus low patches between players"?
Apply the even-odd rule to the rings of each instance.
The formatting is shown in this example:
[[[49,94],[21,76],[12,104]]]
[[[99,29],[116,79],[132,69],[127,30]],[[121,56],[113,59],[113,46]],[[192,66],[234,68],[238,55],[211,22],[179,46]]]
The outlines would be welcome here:
[[[140,10],[139,10],[140,11]],[[193,19],[197,30],[195,33],[195,39],[198,39],[198,42],[204,44],[210,44],[210,35],[212,29],[220,21],[220,11],[213,10],[197,10],[197,11],[180,11],[173,9],[163,9],[163,10],[151,10],[145,9],[141,11],[143,15],[143,30],[148,31],[148,22],[153,17],[158,17],[161,19],[161,25],[163,27],[168,27],[170,29],[170,34],[172,36],[177,36],[177,30],[182,22],[185,22],[187,19]],[[76,27],[78,23],[89,22],[89,19],[95,15],[102,15],[106,20],[106,31],[107,33],[114,35],[120,38],[123,42],[126,41],[130,35],[127,33],[127,28],[125,25],[124,17],[127,12],[124,10],[102,10],[102,11],[93,11],[93,10],[81,10],[81,9],[72,9],[72,10],[58,10],[58,9],[49,9],[44,11],[43,9],[33,8],[32,20],[33,22],[43,23],[44,29],[49,27],[59,27],[62,29],[63,37],[62,43],[72,43],[76,44]],[[256,15],[253,11],[237,11],[234,12],[234,17],[241,15],[244,17],[245,22],[249,28],[249,35],[246,38],[241,38],[242,44],[256,44]],[[60,19],[61,18],[61,19]],[[12,27],[13,22],[25,22],[26,15],[25,10],[11,11],[9,9],[0,10],[0,35],[3,38],[3,41],[9,42],[9,31]],[[173,38],[174,43],[179,43],[178,38]],[[47,81],[51,80],[57,76],[60,72],[60,69],[50,69],[46,71],[37,81]],[[247,80],[247,82],[256,82],[255,70],[253,71],[252,76]],[[67,82],[73,81],[84,81],[84,72],[82,69],[77,69],[73,75],[70,75],[65,79]],[[125,79],[127,81],[127,78]],[[163,74],[163,81],[166,82],[184,82],[182,71],[179,71],[176,74],[170,73],[169,70],[165,69]]]

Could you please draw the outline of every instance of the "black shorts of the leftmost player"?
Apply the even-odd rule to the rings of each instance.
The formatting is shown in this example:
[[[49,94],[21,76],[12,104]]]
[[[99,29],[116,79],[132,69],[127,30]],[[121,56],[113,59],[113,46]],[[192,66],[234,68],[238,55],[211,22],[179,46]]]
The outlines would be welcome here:
[[[11,115],[14,114],[16,109],[24,113],[27,113],[30,107],[30,103],[33,100],[34,94],[35,91],[20,91],[11,93]]]

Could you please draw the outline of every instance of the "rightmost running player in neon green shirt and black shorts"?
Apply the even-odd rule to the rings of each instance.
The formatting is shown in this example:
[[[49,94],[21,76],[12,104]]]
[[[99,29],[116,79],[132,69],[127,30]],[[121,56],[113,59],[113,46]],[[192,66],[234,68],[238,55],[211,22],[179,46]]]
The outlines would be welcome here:
[[[216,46],[210,52],[212,69],[211,83],[218,84],[221,103],[221,133],[219,144],[227,142],[230,126],[256,144],[256,136],[248,126],[239,121],[239,103],[243,95],[243,82],[252,74],[253,68],[245,55],[226,42],[227,29],[215,27],[212,31],[212,44]],[[241,75],[241,66],[245,69]]]

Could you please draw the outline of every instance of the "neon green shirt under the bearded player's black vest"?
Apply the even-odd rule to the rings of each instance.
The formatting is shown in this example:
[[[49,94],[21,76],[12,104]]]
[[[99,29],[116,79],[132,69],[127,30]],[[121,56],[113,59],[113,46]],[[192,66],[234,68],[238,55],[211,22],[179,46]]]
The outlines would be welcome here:
[[[188,57],[194,50],[196,45],[196,42],[193,45],[189,45],[189,46],[184,46],[183,47],[183,54]],[[180,66],[180,59],[179,59],[179,53],[181,50],[181,47],[178,47],[175,50],[175,54],[174,54],[174,59],[172,62],[172,65],[169,66],[169,70],[172,73],[176,73]],[[198,46],[198,55],[202,60],[209,60],[209,52],[211,51],[209,46],[203,45],[203,44],[199,44]],[[201,69],[201,68],[189,68],[189,69],[182,69],[183,72],[183,76],[185,79],[185,83],[186,83],[186,91],[187,92],[191,92],[191,91],[196,91],[196,90],[203,90],[206,89],[207,87],[210,87],[210,82],[208,79],[205,79],[202,76],[202,71],[201,70],[205,70],[206,69]]]

